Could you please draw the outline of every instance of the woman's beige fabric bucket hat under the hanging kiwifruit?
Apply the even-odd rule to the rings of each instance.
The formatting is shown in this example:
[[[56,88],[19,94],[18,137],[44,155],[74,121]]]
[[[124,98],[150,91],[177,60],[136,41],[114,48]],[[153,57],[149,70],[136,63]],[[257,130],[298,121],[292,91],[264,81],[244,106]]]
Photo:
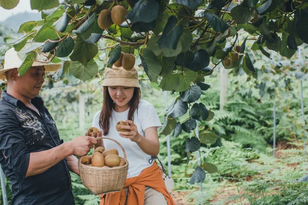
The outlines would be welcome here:
[[[123,67],[105,68],[105,79],[102,86],[128,86],[140,88],[137,67],[125,70]]]

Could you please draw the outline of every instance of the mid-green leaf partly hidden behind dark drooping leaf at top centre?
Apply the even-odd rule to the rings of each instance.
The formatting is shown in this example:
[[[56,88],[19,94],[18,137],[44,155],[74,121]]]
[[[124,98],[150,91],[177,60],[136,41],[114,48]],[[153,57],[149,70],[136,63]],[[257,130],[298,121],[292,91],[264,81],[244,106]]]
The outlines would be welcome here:
[[[152,50],[156,56],[163,55],[165,57],[173,57],[181,53],[182,45],[180,41],[178,42],[176,49],[160,48],[157,44],[159,38],[160,36],[152,36],[147,43],[147,48]]]

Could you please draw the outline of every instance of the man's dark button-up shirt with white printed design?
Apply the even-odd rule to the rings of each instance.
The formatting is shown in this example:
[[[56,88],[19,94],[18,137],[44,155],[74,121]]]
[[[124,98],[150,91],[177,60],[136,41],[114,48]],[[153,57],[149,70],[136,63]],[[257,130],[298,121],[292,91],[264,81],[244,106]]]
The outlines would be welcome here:
[[[0,164],[12,184],[11,205],[75,204],[66,159],[41,174],[25,178],[31,152],[48,150],[63,143],[43,100],[35,97],[31,103],[40,115],[6,91],[2,92]]]

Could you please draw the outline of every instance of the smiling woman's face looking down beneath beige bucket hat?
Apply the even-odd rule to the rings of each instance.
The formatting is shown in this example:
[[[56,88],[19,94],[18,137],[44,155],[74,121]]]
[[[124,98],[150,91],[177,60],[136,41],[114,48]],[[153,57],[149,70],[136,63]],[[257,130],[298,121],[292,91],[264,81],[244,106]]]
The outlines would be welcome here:
[[[108,86],[108,92],[116,106],[127,107],[128,102],[132,100],[134,87]]]

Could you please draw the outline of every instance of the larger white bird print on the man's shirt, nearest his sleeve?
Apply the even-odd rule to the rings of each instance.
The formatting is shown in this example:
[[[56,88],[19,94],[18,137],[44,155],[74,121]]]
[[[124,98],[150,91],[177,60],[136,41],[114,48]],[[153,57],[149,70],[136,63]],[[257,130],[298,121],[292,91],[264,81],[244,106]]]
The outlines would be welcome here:
[[[46,133],[44,132],[43,125],[39,122],[39,120],[32,114],[31,111],[27,110],[22,113],[21,109],[15,109],[17,117],[22,121],[23,128],[30,128],[32,130],[31,134],[33,136],[37,136],[39,133],[41,134],[40,140],[43,140]],[[30,115],[30,116],[29,116]],[[39,140],[39,139],[36,139]],[[26,142],[27,145],[34,144],[34,139]]]

